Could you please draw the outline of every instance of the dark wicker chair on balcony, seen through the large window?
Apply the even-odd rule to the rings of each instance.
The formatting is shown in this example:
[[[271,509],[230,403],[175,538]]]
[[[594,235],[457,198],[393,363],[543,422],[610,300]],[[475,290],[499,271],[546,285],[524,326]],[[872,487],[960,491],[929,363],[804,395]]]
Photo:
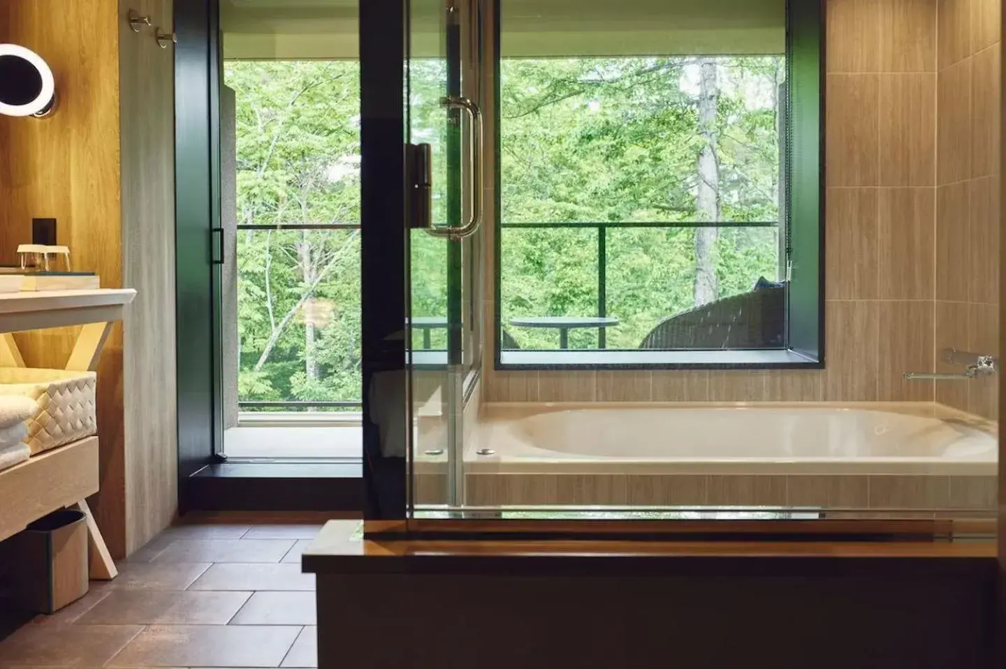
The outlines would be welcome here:
[[[775,284],[665,318],[639,347],[777,348],[783,346],[785,327],[786,286]]]

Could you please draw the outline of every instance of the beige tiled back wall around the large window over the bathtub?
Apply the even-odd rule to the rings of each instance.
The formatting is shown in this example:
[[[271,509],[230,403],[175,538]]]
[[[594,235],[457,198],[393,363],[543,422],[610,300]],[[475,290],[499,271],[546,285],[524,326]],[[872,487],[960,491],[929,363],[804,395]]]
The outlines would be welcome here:
[[[901,379],[901,372],[932,370],[935,364],[934,266],[940,258],[934,243],[940,230],[935,229],[934,220],[941,205],[936,188],[941,163],[938,147],[953,138],[953,146],[963,145],[969,157],[978,153],[972,149],[972,136],[963,135],[959,127],[948,127],[949,135],[937,132],[938,90],[953,92],[958,102],[965,95],[961,89],[965,85],[958,79],[946,79],[946,90],[939,86],[938,53],[941,70],[955,64],[959,72],[976,69],[981,50],[977,47],[985,48],[999,37],[998,31],[993,35],[987,29],[980,39],[977,34],[972,39],[970,26],[987,28],[986,21],[980,20],[991,12],[985,5],[998,5],[998,1],[964,2],[966,11],[975,12],[974,20],[970,13],[962,18],[960,8],[937,0],[827,3],[826,370],[499,372],[487,355],[486,400],[933,399],[933,382],[909,384]],[[942,51],[937,46],[938,12],[940,21],[955,21],[956,30],[941,37],[941,44],[947,42]],[[962,40],[967,41],[966,47]],[[966,56],[972,62],[962,65]],[[991,75],[987,69],[994,64],[983,62],[986,69],[982,71]],[[483,76],[492,80],[491,63]],[[487,133],[492,137],[494,115],[488,113],[492,103],[484,103],[490,121]],[[983,128],[995,125],[982,118]],[[981,144],[982,151],[989,150],[989,144],[977,139],[974,143]],[[988,157],[983,160],[992,162]],[[973,167],[974,161],[969,158],[968,164]],[[493,166],[488,167],[486,182],[492,184]],[[943,169],[961,168],[948,164]],[[985,200],[990,211],[991,190]],[[944,196],[966,197],[952,189],[944,191]],[[492,197],[489,188],[487,201],[493,201]],[[956,202],[942,201],[945,207]],[[491,323],[494,226],[491,218],[486,222],[485,314]],[[948,250],[960,254],[966,248]],[[970,266],[974,260],[965,263]],[[982,267],[991,276],[991,266]],[[981,316],[983,326],[993,327],[991,314],[979,311],[976,307],[975,314],[969,312],[969,323]],[[492,351],[492,328],[486,328],[486,351]]]

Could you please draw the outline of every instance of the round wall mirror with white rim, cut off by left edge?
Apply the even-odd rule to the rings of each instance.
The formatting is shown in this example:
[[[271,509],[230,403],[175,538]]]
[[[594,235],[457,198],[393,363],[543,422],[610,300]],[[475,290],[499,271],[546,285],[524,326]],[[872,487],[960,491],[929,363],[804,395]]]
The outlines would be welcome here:
[[[41,56],[17,44],[0,44],[0,114],[48,116],[55,100],[56,82]]]

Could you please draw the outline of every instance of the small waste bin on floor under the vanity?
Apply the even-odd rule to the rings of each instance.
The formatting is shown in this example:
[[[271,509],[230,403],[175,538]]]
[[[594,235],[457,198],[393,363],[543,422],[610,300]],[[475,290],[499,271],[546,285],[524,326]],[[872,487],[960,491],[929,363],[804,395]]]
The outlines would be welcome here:
[[[14,591],[21,606],[52,614],[88,594],[88,524],[75,509],[39,518],[11,537]]]

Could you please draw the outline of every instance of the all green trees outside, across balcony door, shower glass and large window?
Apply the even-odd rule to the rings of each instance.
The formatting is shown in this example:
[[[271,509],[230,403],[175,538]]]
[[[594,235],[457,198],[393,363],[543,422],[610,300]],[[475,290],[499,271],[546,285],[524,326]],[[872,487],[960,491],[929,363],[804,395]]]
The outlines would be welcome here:
[[[443,62],[413,63],[413,141],[443,173]],[[501,312],[598,312],[604,232],[610,348],[635,348],[662,318],[775,278],[775,227],[699,220],[779,218],[782,57],[512,59],[501,64]],[[359,67],[350,61],[232,61],[237,100],[241,399],[360,396]],[[445,179],[436,180],[443,190]],[[446,221],[443,192],[434,217]],[[521,226],[548,223],[547,226]],[[675,226],[684,223],[684,226]],[[704,229],[705,232],[698,230]],[[446,250],[414,235],[413,313],[446,312]],[[511,329],[525,348],[554,332]],[[574,347],[597,333],[571,333]],[[443,337],[435,337],[435,345]]]

